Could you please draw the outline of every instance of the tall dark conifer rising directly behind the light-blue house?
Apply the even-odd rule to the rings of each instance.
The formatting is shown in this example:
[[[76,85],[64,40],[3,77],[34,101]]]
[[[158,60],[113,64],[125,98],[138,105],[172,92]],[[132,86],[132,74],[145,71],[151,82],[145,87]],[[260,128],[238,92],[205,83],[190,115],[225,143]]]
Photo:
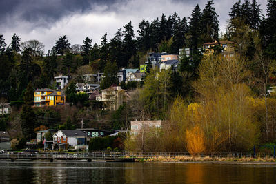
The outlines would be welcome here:
[[[134,38],[134,31],[133,31],[133,26],[131,21],[127,23],[124,26],[124,31],[123,31],[123,48],[124,48],[124,63],[123,67],[128,66],[128,62],[130,61],[132,56],[135,56],[136,54],[136,44],[135,41],[133,40]],[[138,67],[139,63],[132,63],[134,67]]]

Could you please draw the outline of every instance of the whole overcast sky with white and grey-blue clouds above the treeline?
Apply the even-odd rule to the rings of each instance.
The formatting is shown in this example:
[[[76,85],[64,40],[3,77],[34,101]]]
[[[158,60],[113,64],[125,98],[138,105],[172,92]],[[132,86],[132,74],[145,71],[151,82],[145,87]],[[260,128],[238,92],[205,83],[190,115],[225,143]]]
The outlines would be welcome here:
[[[16,33],[21,41],[37,39],[47,52],[60,36],[67,35],[71,45],[82,44],[85,37],[100,43],[105,32],[108,41],[117,29],[132,21],[135,30],[142,19],[152,21],[177,12],[190,17],[197,3],[201,10],[207,0],[1,0],[0,34],[7,45]],[[225,31],[233,0],[214,0],[219,28]],[[243,0],[242,0],[243,2]],[[266,0],[257,0],[263,14]]]

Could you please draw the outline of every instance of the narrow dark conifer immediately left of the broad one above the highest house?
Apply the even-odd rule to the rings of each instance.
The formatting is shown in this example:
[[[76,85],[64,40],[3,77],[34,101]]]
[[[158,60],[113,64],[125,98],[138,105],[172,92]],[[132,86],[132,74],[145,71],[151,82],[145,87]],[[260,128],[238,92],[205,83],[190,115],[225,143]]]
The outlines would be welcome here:
[[[200,36],[200,20],[201,20],[201,10],[199,5],[195,6],[190,19],[190,26],[188,34],[190,35],[190,48],[197,50],[199,46],[199,36]]]

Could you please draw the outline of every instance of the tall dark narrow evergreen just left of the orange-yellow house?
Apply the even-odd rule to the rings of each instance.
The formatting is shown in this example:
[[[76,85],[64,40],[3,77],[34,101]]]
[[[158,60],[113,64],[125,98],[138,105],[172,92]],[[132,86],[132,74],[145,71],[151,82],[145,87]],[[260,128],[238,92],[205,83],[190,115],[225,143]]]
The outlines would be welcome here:
[[[22,133],[25,138],[34,137],[35,114],[32,108],[34,100],[34,90],[32,82],[28,83],[25,95],[23,97],[24,104],[20,114]]]

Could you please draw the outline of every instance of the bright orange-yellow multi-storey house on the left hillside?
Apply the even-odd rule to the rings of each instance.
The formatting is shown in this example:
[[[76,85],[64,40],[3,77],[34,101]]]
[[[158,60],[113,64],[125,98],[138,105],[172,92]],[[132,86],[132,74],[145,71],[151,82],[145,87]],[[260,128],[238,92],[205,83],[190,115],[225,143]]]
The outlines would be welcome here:
[[[66,96],[63,92],[49,88],[41,88],[34,91],[34,106],[43,107],[49,105],[64,105]]]

